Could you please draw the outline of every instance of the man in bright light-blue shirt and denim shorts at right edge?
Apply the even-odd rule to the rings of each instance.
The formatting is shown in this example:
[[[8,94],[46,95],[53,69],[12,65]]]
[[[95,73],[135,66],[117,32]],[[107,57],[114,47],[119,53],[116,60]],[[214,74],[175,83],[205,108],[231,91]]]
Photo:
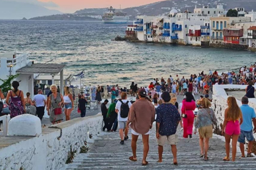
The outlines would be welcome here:
[[[249,144],[248,144],[248,150],[247,150],[247,157],[253,157],[252,155],[252,144],[253,144],[253,132],[256,132],[256,120],[255,120],[255,111],[253,108],[248,106],[248,98],[244,96],[241,99],[242,106],[241,112],[243,115],[243,123],[240,126],[241,133],[238,138],[238,142],[240,142],[240,150],[242,157],[245,157],[245,138],[247,138]],[[254,125],[254,128],[252,127],[252,122]]]

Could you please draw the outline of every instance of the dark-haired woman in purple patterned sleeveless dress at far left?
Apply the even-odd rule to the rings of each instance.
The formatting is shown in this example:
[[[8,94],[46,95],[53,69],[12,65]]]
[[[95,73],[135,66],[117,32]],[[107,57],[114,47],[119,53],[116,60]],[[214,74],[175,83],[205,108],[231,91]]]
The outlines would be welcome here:
[[[7,94],[6,104],[9,105],[11,118],[14,118],[15,116],[25,113],[26,106],[23,91],[18,89],[18,87],[20,86],[19,82],[13,81],[11,85],[13,86],[13,90],[9,91],[9,93]],[[10,103],[9,98],[11,98]]]

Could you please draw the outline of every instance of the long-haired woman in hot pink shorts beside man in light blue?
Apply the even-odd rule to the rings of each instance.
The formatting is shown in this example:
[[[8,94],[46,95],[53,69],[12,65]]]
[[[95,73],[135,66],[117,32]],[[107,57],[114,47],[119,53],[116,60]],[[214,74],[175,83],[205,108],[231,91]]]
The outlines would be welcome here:
[[[228,97],[228,108],[225,110],[222,134],[225,132],[226,157],[223,161],[229,161],[230,140],[232,139],[232,161],[236,158],[236,144],[240,135],[240,125],[243,123],[243,116],[240,107],[236,103],[236,98]]]

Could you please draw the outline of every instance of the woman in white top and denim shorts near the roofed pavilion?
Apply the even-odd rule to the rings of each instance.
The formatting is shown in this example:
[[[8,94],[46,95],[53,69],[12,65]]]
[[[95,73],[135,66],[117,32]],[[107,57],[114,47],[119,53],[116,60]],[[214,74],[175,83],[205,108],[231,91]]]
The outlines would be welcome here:
[[[72,110],[74,109],[74,100],[73,96],[70,93],[70,87],[66,86],[64,88],[64,113],[66,116],[66,121],[70,120],[70,115]]]

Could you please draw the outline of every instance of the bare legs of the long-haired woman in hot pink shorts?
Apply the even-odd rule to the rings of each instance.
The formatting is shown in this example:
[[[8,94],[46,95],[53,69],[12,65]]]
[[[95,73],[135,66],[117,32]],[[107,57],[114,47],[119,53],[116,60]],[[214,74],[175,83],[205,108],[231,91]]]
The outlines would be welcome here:
[[[239,135],[227,135],[225,134],[225,140],[226,140],[226,155],[229,158],[229,150],[230,150],[230,140],[232,137],[232,161],[235,161],[236,159],[236,143],[238,141]]]

